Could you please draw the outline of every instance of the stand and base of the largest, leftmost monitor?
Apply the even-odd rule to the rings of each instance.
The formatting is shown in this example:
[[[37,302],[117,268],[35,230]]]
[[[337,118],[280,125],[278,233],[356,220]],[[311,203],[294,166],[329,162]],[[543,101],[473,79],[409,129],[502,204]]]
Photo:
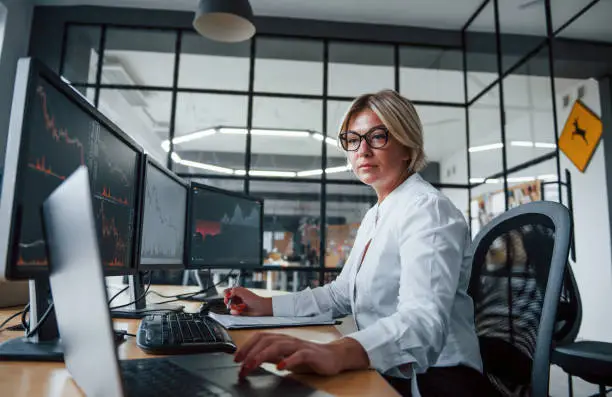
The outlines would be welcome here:
[[[30,280],[30,329],[38,324],[51,302],[49,279]],[[64,361],[55,309],[34,336],[9,339],[0,344],[0,361]]]

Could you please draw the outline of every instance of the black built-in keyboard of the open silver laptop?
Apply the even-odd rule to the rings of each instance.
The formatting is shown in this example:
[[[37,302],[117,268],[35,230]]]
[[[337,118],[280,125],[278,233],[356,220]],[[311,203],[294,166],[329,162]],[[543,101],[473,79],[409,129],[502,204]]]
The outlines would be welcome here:
[[[120,361],[126,395],[231,397],[221,387],[165,359]]]

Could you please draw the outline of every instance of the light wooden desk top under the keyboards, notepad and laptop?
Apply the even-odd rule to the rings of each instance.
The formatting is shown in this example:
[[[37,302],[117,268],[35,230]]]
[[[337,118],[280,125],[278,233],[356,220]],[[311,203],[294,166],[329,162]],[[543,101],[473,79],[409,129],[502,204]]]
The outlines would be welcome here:
[[[176,287],[176,286],[155,286],[151,289],[157,292],[173,295],[185,291],[193,291],[194,287]],[[111,291],[112,292],[112,291]],[[270,296],[277,294],[278,291],[258,290],[261,295]],[[160,301],[155,296],[150,295],[149,302]],[[117,304],[121,302],[121,297],[117,299]],[[197,311],[199,303],[184,302],[187,311]],[[19,311],[21,308],[0,309],[0,323],[8,318],[11,314]],[[19,320],[13,320],[9,324],[17,324]],[[129,333],[135,334],[138,329],[139,320],[116,319],[114,320],[115,328],[126,329]],[[280,332],[288,335],[293,335],[299,338],[317,341],[329,342],[338,339],[342,333],[350,332],[351,324],[345,321],[343,325],[334,326],[316,326],[316,327],[299,327],[299,328],[281,328],[275,329],[274,332]],[[242,345],[253,333],[257,331],[230,331],[230,334],[238,346]],[[0,342],[7,339],[22,336],[23,332],[8,332],[0,333]],[[153,355],[145,354],[138,346],[133,337],[129,337],[118,347],[120,359],[135,359],[135,358],[150,358]],[[272,372],[293,376],[296,379],[320,390],[324,390],[336,396],[397,396],[395,390],[373,370],[345,372],[333,377],[323,377],[316,375],[296,375],[287,371],[276,371],[275,367],[270,364],[264,364],[263,367]],[[103,371],[103,368],[100,368]],[[57,396],[82,396],[83,393],[72,382],[70,374],[66,370],[63,363],[44,363],[44,362],[0,362],[0,395],[11,397],[57,397]]]

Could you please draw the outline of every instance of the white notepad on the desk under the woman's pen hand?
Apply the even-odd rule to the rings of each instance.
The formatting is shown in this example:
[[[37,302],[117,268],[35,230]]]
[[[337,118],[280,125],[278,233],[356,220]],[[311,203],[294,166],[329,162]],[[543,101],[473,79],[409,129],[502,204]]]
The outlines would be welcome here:
[[[312,317],[248,317],[208,313],[210,318],[226,329],[302,327],[307,325],[334,325],[331,312]]]

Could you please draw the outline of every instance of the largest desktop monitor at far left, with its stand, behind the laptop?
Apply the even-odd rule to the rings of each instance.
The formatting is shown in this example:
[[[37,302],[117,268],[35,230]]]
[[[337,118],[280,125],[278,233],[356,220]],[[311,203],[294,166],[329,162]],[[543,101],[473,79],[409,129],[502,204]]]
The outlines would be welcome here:
[[[104,272],[132,273],[142,160],[142,149],[80,93],[42,63],[19,60],[0,198],[0,279],[32,280],[30,329],[51,304],[43,201],[68,175],[86,166]],[[1,345],[0,359],[58,359],[55,350],[37,350],[44,343],[31,343],[46,341],[53,350],[57,337],[50,315],[35,337]]]

